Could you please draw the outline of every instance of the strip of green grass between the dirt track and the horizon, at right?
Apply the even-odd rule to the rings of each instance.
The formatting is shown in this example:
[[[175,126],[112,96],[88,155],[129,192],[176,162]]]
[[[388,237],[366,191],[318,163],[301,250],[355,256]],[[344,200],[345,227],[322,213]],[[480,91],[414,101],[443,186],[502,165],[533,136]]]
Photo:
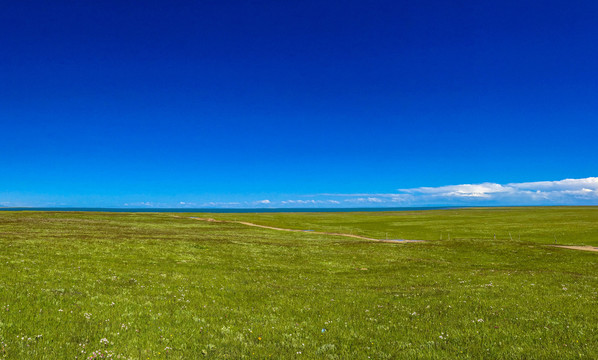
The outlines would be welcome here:
[[[377,239],[498,239],[598,246],[598,207],[465,208],[354,213],[202,214]]]

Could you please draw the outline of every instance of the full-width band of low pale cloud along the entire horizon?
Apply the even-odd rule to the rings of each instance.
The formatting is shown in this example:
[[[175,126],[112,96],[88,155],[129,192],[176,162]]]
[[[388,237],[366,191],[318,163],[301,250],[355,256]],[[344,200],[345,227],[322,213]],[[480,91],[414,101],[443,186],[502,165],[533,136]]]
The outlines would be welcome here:
[[[1,194],[0,194],[1,195]],[[263,195],[262,195],[263,196]],[[245,196],[248,197],[247,195]],[[136,199],[118,203],[90,201],[65,204],[58,201],[10,199],[0,196],[0,207],[124,207],[124,208],[360,208],[423,206],[517,206],[517,205],[598,205],[598,177],[498,184],[459,184],[401,188],[392,193],[325,193],[268,195],[246,201],[206,199]],[[139,201],[142,200],[142,201]],[[145,200],[145,201],[143,201]],[[156,201],[162,200],[162,201]],[[222,199],[224,200],[224,199]],[[233,200],[233,201],[230,201]]]

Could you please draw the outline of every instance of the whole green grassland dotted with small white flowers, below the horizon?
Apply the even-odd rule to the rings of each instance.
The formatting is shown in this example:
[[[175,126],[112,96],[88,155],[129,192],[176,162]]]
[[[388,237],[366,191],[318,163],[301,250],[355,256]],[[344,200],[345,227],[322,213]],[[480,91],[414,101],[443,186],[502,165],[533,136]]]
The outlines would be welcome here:
[[[596,359],[598,253],[555,241],[598,208],[3,211],[0,358]]]

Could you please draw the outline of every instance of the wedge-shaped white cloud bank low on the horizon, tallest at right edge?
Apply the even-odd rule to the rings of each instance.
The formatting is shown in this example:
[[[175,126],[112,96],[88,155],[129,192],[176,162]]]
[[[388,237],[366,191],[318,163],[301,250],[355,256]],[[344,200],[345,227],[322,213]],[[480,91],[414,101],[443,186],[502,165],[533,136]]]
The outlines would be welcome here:
[[[311,194],[298,199],[210,202],[201,207],[350,208],[486,205],[598,205],[598,177],[397,189],[395,193]],[[231,206],[232,205],[232,206]]]

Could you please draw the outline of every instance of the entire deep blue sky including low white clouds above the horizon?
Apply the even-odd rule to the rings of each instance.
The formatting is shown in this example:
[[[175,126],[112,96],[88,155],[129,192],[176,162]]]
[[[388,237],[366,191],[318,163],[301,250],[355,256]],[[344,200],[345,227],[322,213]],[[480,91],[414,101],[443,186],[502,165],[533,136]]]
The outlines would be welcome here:
[[[593,0],[4,1],[0,205],[598,204],[597,19]]]

